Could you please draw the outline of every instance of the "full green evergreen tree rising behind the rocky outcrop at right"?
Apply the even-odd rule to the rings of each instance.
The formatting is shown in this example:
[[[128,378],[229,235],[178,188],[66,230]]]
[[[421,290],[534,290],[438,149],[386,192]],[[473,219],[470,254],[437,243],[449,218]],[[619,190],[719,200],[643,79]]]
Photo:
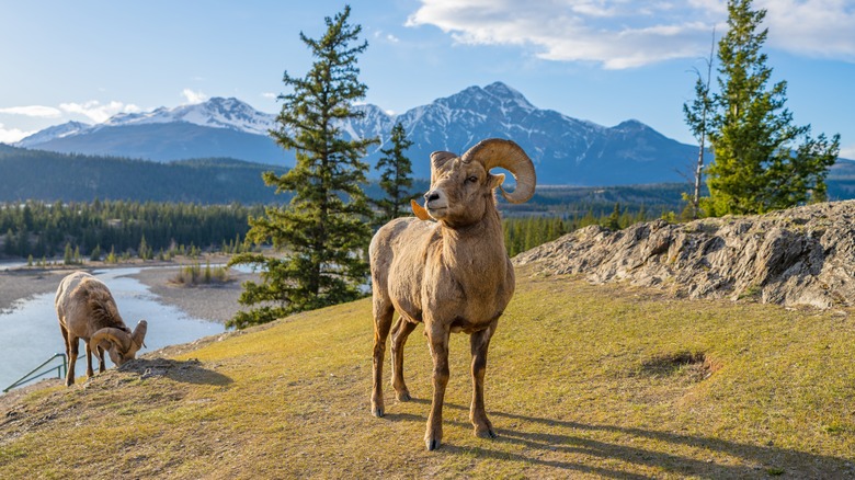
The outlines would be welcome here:
[[[825,199],[825,176],[840,151],[840,136],[810,137],[784,107],[787,83],[767,88],[772,69],[762,53],[765,10],[752,0],[728,1],[728,32],[718,44],[718,87],[709,139],[715,163],[707,170],[710,215],[755,214]],[[802,142],[794,146],[797,140]]]

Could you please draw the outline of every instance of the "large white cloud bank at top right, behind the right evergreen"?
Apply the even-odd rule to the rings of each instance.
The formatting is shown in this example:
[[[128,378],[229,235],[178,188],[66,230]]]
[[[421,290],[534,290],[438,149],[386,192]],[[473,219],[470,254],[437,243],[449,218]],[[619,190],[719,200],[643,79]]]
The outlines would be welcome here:
[[[770,46],[855,59],[855,8],[846,0],[759,0]],[[455,42],[534,47],[539,58],[622,69],[705,57],[723,0],[422,0],[407,26],[434,25]],[[778,35],[775,32],[779,32]]]

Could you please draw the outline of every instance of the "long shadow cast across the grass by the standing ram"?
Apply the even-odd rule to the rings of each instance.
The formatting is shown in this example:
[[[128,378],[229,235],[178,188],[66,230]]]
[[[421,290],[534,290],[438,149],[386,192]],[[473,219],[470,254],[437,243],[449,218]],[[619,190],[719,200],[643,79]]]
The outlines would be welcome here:
[[[428,400],[413,399],[415,403],[430,404]],[[469,411],[468,407],[445,403],[446,409]],[[585,465],[581,461],[562,460],[563,455],[598,457],[628,465],[656,467],[677,476],[702,478],[770,478],[786,475],[787,478],[855,478],[853,460],[828,455],[816,455],[774,446],[757,446],[722,441],[719,438],[684,435],[654,430],[624,427],[616,425],[592,425],[579,422],[520,415],[503,412],[488,412],[493,419],[499,437],[498,443],[524,447],[522,454],[491,449],[491,442],[485,441],[475,449],[444,444],[440,452],[449,454],[472,454],[481,458],[521,461],[604,478],[642,479],[646,475],[616,468]],[[425,418],[412,414],[387,414],[391,421],[424,422]],[[497,418],[515,420],[513,427],[502,427]],[[465,422],[449,422],[464,428]],[[549,427],[549,433],[538,432],[539,426]],[[595,439],[603,434],[609,439]],[[619,437],[619,441],[612,438]],[[645,439],[659,445],[645,447]],[[635,443],[635,445],[634,445]],[[692,457],[679,455],[680,447],[689,447]],[[736,461],[734,461],[736,460]],[[734,462],[741,465],[732,465]],[[594,462],[592,462],[594,464]],[[631,469],[630,469],[631,470]]]

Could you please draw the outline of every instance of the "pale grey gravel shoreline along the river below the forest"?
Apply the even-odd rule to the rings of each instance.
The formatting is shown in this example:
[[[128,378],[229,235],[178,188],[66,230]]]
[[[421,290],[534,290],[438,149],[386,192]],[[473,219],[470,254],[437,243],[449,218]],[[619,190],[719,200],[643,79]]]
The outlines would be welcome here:
[[[149,290],[158,297],[158,301],[178,307],[194,318],[225,323],[241,309],[238,304],[242,292],[241,284],[247,279],[258,279],[259,276],[258,274],[229,271],[230,281],[225,284],[185,287],[171,282],[181,266],[174,263],[166,265],[119,264],[111,266],[84,265],[83,268],[11,268],[0,271],[0,312],[13,310],[19,300],[26,300],[39,294],[56,293],[62,277],[75,270],[91,272],[110,267],[141,267],[139,273],[130,276],[147,285]],[[121,305],[118,309],[122,311]]]

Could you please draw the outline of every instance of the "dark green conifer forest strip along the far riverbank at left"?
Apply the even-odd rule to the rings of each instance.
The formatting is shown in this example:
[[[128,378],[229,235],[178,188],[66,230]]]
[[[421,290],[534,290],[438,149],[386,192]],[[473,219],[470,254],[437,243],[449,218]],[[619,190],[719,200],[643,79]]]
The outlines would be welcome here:
[[[0,254],[54,258],[70,248],[92,258],[189,249],[237,250],[261,206],[95,201],[0,204]],[[142,251],[145,250],[145,251]]]

